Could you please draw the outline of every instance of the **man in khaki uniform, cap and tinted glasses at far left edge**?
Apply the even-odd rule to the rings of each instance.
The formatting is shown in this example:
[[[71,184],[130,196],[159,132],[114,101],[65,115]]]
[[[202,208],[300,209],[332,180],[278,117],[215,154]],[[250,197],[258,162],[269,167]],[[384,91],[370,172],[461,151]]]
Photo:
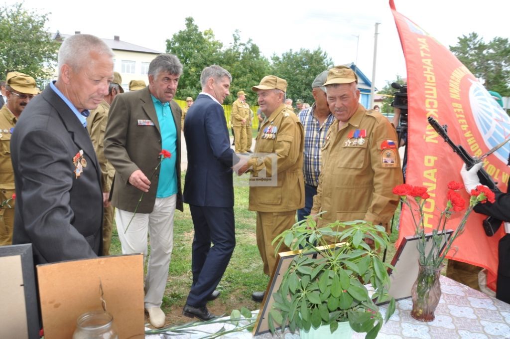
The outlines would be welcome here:
[[[10,72],[6,80],[7,103],[0,109],[0,246],[12,244],[14,225],[14,170],[11,162],[11,135],[19,115],[37,94],[35,80],[20,72]],[[9,200],[11,199],[11,200]]]

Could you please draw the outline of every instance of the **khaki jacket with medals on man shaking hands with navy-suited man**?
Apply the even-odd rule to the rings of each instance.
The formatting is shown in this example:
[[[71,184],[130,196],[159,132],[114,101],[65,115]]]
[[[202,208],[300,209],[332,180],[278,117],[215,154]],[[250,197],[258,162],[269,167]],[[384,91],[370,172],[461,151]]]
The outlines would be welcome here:
[[[249,210],[287,212],[304,207],[303,140],[303,125],[284,104],[264,120],[249,164],[253,178],[269,178],[276,172],[277,182],[275,186],[250,182]],[[276,167],[271,157],[258,153],[275,153]]]

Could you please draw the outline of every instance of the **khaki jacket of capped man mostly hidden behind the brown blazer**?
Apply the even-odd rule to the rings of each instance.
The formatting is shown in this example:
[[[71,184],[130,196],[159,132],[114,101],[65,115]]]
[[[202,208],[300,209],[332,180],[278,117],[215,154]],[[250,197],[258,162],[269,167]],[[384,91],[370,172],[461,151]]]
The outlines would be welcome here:
[[[96,109],[90,111],[87,117],[87,132],[89,132],[90,140],[94,146],[94,150],[101,167],[101,188],[103,192],[109,192],[112,187],[113,177],[115,176],[115,168],[105,157],[105,139],[106,124],[108,123],[108,111],[110,105],[105,101],[101,101]]]

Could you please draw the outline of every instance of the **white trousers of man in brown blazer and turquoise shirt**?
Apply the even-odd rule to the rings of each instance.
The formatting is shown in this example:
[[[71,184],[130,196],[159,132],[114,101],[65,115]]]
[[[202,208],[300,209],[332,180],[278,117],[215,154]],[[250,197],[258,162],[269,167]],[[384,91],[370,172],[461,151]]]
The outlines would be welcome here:
[[[156,198],[151,213],[136,213],[131,225],[124,229],[133,212],[117,209],[115,223],[119,234],[122,254],[143,253],[147,258],[147,234],[150,238],[150,256],[145,276],[145,308],[161,307],[168,279],[170,255],[173,248],[173,216],[177,195]]]

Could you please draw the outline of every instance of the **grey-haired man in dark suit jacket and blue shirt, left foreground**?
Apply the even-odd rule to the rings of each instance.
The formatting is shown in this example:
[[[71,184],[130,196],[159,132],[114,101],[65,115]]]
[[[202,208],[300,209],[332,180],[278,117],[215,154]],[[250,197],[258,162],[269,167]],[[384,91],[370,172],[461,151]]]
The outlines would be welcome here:
[[[101,253],[101,172],[85,116],[108,94],[113,52],[79,34],[64,40],[58,60],[58,80],[31,100],[11,138],[13,244],[32,243],[36,264]]]

